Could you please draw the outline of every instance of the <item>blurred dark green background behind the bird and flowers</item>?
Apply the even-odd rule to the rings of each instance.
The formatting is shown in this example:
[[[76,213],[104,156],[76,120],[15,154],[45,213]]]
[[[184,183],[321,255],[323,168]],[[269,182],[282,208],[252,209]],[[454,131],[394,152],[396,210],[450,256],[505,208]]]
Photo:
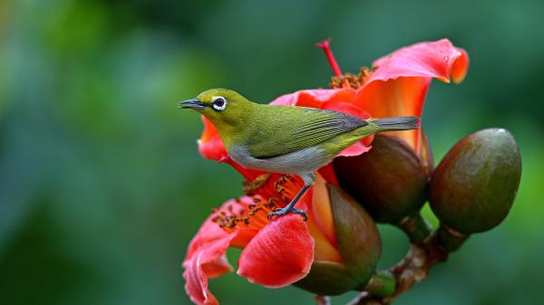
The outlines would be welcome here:
[[[471,68],[460,85],[432,83],[423,124],[435,158],[488,127],[520,144],[506,221],[397,303],[541,303],[542,12],[541,1],[0,1],[0,303],[189,304],[186,247],[242,179],[199,156],[200,119],[176,102],[219,86],[262,102],[326,87],[315,43],[329,36],[353,72],[450,38]],[[386,267],[408,243],[380,229]],[[211,289],[228,305],[314,304],[236,274]]]

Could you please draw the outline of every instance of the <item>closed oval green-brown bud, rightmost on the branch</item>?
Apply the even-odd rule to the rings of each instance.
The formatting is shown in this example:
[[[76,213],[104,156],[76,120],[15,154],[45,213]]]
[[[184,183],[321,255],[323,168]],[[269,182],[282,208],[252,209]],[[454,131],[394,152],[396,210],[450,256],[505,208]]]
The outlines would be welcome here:
[[[520,150],[510,132],[480,130],[455,144],[434,171],[432,211],[461,234],[491,230],[509,213],[520,176]]]

